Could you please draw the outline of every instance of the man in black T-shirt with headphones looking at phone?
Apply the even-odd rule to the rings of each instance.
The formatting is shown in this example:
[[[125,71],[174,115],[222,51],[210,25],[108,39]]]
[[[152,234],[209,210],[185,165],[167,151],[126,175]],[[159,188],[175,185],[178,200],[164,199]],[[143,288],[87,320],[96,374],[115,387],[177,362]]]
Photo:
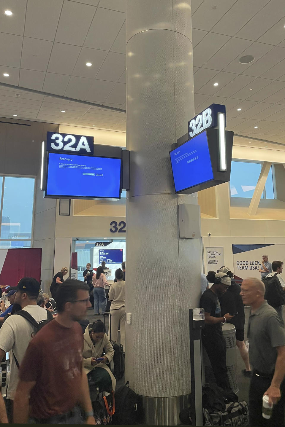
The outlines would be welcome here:
[[[231,286],[231,279],[225,273],[215,273],[214,271],[209,271],[206,277],[213,285],[203,293],[200,299],[200,307],[205,310],[202,343],[211,362],[217,385],[225,391],[231,391],[226,367],[226,340],[221,324],[232,319],[233,316],[226,313],[221,317],[218,298]]]

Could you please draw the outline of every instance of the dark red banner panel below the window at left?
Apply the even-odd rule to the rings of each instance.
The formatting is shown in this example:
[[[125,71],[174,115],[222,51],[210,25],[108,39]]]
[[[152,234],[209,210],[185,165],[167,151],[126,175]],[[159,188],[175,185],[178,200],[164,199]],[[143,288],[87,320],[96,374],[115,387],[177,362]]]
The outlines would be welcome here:
[[[23,277],[41,283],[41,248],[0,249],[0,285],[17,286]]]

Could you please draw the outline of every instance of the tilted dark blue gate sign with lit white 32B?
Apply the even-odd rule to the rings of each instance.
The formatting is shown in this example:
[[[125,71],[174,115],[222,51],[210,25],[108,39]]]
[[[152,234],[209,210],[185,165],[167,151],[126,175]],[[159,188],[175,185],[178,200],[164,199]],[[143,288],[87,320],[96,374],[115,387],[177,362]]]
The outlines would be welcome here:
[[[202,132],[207,128],[213,128],[218,125],[217,113],[224,113],[226,117],[225,105],[212,104],[202,113],[197,114],[193,119],[188,121],[188,135],[189,138],[193,138],[198,133]]]

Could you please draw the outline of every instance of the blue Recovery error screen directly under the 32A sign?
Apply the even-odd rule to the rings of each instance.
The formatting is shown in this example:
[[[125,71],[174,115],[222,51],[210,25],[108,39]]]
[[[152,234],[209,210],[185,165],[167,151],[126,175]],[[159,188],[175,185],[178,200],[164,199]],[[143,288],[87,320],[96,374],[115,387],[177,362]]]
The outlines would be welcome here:
[[[121,159],[48,154],[47,196],[120,198]]]

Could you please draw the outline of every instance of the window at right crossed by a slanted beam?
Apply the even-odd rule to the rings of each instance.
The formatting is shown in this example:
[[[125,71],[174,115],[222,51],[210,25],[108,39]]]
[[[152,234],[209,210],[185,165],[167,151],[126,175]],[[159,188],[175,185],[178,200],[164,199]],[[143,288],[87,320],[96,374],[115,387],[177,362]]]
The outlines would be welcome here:
[[[261,172],[262,163],[232,161],[230,190],[231,197],[252,198]],[[266,180],[261,199],[275,199],[274,165]]]

